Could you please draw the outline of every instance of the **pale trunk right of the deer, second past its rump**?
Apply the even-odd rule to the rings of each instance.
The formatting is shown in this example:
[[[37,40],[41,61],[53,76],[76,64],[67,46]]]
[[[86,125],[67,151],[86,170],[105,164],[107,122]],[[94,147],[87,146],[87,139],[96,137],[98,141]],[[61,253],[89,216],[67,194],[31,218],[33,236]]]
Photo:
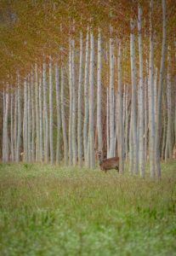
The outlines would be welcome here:
[[[137,120],[136,120],[136,57],[135,57],[135,35],[134,20],[131,20],[130,52],[131,52],[131,73],[132,73],[132,120],[133,120],[133,168],[138,173],[138,141],[137,141]]]

